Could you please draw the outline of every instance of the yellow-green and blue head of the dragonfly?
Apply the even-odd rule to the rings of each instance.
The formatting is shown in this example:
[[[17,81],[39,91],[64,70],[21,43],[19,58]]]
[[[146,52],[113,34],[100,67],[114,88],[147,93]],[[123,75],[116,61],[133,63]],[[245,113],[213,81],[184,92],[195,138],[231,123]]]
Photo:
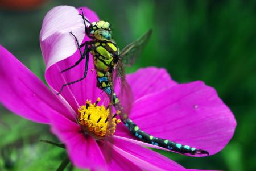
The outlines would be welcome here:
[[[108,22],[92,22],[88,28],[89,34],[100,41],[111,40],[111,28]]]

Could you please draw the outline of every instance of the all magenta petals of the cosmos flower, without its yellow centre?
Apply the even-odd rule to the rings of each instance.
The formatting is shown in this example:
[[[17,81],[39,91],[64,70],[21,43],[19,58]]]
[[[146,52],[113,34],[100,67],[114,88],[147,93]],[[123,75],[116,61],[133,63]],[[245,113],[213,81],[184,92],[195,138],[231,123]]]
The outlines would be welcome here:
[[[86,18],[99,20],[83,7]],[[79,42],[85,37],[79,10],[58,6],[48,12],[40,33],[40,45],[46,62],[48,89],[38,77],[0,46],[0,101],[7,109],[33,122],[49,124],[53,134],[65,144],[69,159],[78,168],[92,170],[186,170],[181,165],[142,146],[159,148],[138,141],[122,124],[113,136],[112,160],[106,162],[105,148],[93,137],[81,132],[77,109],[86,100],[101,97],[96,87],[96,73],[64,88],[61,85],[80,78],[84,65],[65,73],[61,70],[79,59],[79,52],[70,31]],[[82,40],[84,38],[84,40]],[[90,56],[89,70],[93,69]],[[210,155],[221,151],[234,134],[236,120],[216,91],[201,81],[178,84],[164,69],[139,69],[127,74],[134,93],[129,117],[141,130],[156,137],[205,149]],[[164,149],[167,150],[167,149]],[[195,155],[199,156],[199,155]]]

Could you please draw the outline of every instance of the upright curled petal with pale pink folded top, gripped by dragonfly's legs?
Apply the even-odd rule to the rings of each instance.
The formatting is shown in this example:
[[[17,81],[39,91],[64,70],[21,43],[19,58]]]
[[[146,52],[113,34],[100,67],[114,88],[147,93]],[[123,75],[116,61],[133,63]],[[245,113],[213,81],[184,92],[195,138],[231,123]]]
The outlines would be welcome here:
[[[66,20],[65,15],[63,16],[61,9],[64,8],[65,11],[67,12],[67,15],[71,15],[71,19],[75,20],[76,22],[79,22],[80,25],[83,24],[81,16],[77,15],[77,13],[81,13],[80,10],[76,10],[73,7],[68,7],[68,6],[60,6],[60,7],[55,7],[51,11],[48,12],[46,15],[46,18],[44,19],[44,23],[46,23],[46,26],[48,26],[48,23],[54,23],[56,20]],[[90,21],[97,21],[98,16],[91,11],[90,9],[86,7],[82,7],[85,16],[90,20]],[[57,11],[57,12],[52,12],[52,11]],[[54,15],[53,15],[54,14]],[[46,22],[45,22],[46,21]],[[82,78],[84,76],[84,70],[85,70],[85,60],[83,60],[78,66],[75,68],[72,68],[68,70],[67,72],[61,73],[61,70],[67,69],[69,66],[72,66],[75,64],[77,60],[80,58],[80,53],[77,50],[76,42],[74,37],[69,33],[70,31],[73,31],[73,21],[68,20],[67,22],[64,22],[65,29],[64,31],[58,31],[57,28],[59,28],[59,25],[56,24],[56,29],[53,32],[52,35],[48,36],[47,40],[42,40],[40,41],[40,44],[42,46],[42,52],[44,59],[46,60],[46,81],[51,86],[53,90],[60,91],[61,86],[67,82],[72,82],[75,80],[78,80],[79,78]],[[79,30],[80,32],[73,32],[79,38],[79,40],[82,40],[82,42],[89,40],[88,37],[85,36],[85,31],[84,31],[84,25],[79,27],[82,28],[82,30]],[[45,27],[46,27],[45,26]],[[62,25],[61,25],[62,26]],[[45,27],[42,27],[41,35]],[[63,34],[64,32],[64,34]],[[57,34],[57,36],[55,36]],[[65,37],[68,36],[69,39],[71,40],[66,40]],[[60,37],[60,39],[58,38]],[[67,44],[67,46],[72,47],[75,46],[75,51],[72,51],[72,53],[65,53],[67,51],[66,47],[64,46],[55,46],[54,42],[51,40],[53,39],[54,41],[58,41],[58,43],[61,43],[61,40],[63,39],[64,44]],[[80,42],[81,43],[81,42]],[[83,50],[84,48],[82,48]],[[48,55],[48,51],[51,52],[53,51],[56,54],[59,54],[59,56],[51,56]],[[68,54],[68,56],[62,57],[63,53]],[[73,54],[74,53],[74,54]],[[73,54],[73,55],[72,55]],[[64,59],[64,60],[63,60]],[[54,61],[51,62],[52,65],[49,65],[47,61]],[[72,106],[74,110],[77,110],[79,106],[84,105],[86,103],[86,99],[90,99],[92,101],[96,101],[97,97],[101,97],[101,91],[96,87],[96,73],[91,72],[91,70],[94,68],[93,66],[93,61],[92,61],[92,56],[89,56],[89,67],[88,67],[88,75],[87,77],[80,82],[77,82],[76,84],[65,86],[63,89],[63,97],[68,101],[68,103]]]

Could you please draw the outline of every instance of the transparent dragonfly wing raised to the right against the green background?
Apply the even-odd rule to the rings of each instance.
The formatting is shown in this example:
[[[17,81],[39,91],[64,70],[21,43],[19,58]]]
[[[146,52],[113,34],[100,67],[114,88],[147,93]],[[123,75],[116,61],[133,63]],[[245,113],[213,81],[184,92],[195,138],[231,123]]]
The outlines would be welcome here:
[[[139,37],[139,39],[122,49],[120,58],[123,64],[127,66],[134,64],[137,57],[141,55],[142,50],[150,39],[151,34],[152,30],[150,29],[143,36]]]

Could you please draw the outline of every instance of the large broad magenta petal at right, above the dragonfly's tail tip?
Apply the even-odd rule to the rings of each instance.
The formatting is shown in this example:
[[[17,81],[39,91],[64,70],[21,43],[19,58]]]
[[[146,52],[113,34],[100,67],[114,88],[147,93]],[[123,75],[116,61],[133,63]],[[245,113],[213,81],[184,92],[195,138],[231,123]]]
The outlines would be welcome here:
[[[130,118],[153,136],[205,149],[210,155],[225,147],[236,128],[232,112],[216,91],[201,81],[138,99]],[[122,131],[124,128],[118,135],[126,136]]]

